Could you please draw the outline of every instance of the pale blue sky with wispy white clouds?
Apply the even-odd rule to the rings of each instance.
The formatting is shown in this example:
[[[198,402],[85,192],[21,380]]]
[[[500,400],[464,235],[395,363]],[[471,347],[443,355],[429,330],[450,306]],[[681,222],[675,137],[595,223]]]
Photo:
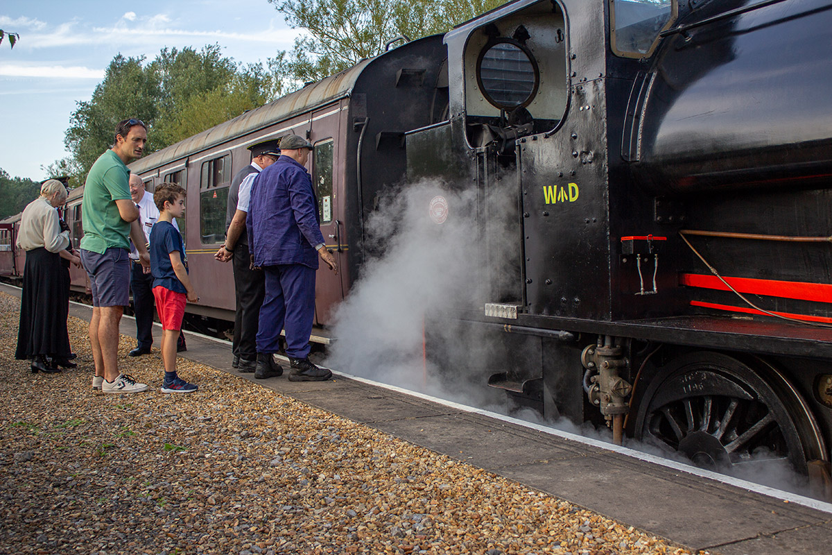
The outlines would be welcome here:
[[[236,62],[265,62],[298,34],[267,0],[0,0],[0,29],[20,35],[0,44],[0,168],[36,181],[69,155],[72,111],[116,54],[151,62],[163,47],[218,43]]]

